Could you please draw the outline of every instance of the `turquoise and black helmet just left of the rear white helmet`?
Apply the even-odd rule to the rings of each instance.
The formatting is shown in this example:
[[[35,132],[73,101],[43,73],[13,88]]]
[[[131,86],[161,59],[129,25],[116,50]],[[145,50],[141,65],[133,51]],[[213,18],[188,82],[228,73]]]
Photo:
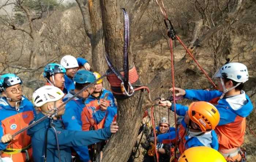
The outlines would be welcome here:
[[[53,76],[57,73],[66,73],[66,69],[62,65],[56,63],[50,63],[45,66],[44,77]]]

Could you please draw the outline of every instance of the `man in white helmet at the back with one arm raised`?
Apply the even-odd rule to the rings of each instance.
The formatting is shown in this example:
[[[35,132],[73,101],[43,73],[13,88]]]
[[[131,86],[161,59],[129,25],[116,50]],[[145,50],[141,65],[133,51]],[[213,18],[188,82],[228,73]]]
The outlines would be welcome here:
[[[60,64],[66,69],[65,74],[65,88],[67,91],[75,89],[75,83],[73,77],[80,67],[84,67],[86,70],[90,70],[90,65],[87,60],[78,57],[77,59],[74,56],[66,55],[62,57]]]

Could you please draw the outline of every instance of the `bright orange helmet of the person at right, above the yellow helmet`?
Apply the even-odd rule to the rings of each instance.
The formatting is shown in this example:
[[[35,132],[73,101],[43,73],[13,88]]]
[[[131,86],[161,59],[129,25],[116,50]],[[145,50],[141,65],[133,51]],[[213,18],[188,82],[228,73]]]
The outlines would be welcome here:
[[[192,102],[188,107],[188,116],[203,132],[215,129],[219,123],[219,111],[205,101]]]

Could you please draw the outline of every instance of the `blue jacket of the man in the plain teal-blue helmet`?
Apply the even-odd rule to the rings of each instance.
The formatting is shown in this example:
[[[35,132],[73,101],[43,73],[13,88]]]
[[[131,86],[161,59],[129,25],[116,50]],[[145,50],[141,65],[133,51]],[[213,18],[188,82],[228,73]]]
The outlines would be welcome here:
[[[74,91],[69,91],[64,97],[64,101],[71,98],[74,95]],[[81,113],[84,108],[84,99],[82,97],[75,97],[73,100],[69,101],[65,106],[65,113],[62,115],[62,121],[64,123],[65,129],[72,131],[82,131],[82,121]],[[104,112],[98,111],[94,114],[97,120],[101,121],[105,116]],[[88,147],[73,147],[76,153],[79,155],[81,161],[87,162],[90,160]]]

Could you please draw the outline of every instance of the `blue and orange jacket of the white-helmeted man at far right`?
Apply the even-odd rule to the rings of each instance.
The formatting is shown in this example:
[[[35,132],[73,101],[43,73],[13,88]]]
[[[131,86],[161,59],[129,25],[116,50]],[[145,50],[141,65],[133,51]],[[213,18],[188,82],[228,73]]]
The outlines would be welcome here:
[[[185,98],[199,101],[210,101],[221,96],[219,91],[186,90]],[[240,147],[244,142],[245,117],[253,110],[250,98],[241,91],[241,94],[224,97],[215,105],[220,114],[220,121],[215,128],[219,139],[219,149]],[[187,108],[182,108],[187,109]],[[178,113],[178,112],[177,112]]]

